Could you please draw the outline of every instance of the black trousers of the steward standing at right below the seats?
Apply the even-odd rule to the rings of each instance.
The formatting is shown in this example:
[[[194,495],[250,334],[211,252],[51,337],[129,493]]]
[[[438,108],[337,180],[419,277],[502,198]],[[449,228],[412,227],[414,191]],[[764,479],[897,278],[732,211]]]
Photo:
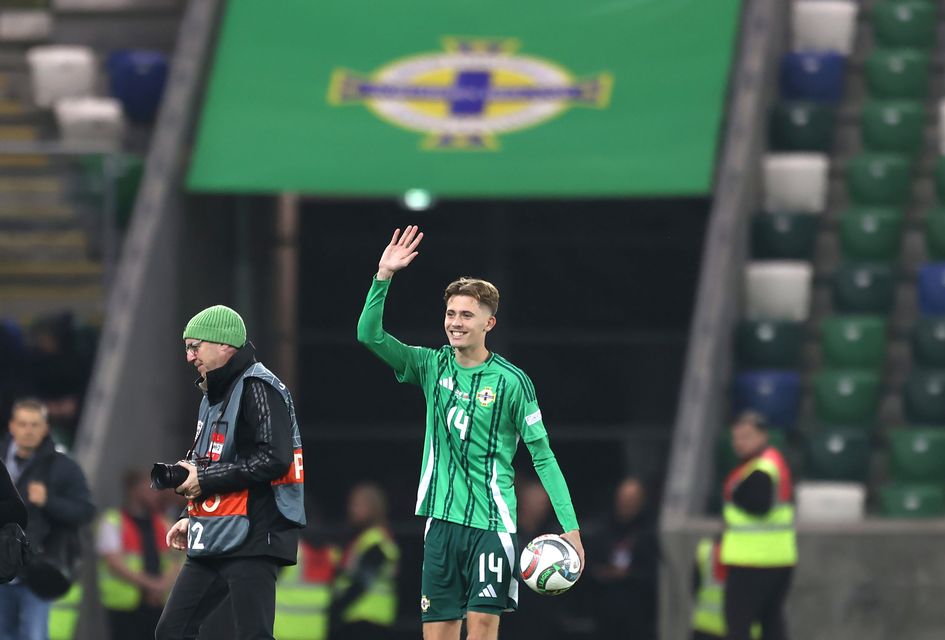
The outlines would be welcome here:
[[[725,581],[728,640],[751,640],[751,625],[761,623],[762,640],[787,640],[784,601],[794,567],[729,567]]]

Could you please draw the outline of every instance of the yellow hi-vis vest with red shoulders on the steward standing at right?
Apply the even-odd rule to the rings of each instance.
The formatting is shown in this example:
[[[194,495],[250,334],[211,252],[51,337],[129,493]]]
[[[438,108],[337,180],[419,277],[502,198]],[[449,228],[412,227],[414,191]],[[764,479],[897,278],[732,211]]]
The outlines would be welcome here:
[[[738,485],[755,471],[771,477],[774,499],[771,509],[755,516],[732,502]],[[729,475],[725,481],[725,533],[722,535],[722,564],[736,567],[791,567],[797,564],[797,534],[794,530],[791,471],[773,447]]]

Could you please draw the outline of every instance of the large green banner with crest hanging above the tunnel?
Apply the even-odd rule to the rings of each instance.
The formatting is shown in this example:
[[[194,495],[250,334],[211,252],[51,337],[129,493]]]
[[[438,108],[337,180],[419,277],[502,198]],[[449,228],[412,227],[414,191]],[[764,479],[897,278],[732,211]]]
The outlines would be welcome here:
[[[189,187],[697,195],[741,0],[230,0]]]

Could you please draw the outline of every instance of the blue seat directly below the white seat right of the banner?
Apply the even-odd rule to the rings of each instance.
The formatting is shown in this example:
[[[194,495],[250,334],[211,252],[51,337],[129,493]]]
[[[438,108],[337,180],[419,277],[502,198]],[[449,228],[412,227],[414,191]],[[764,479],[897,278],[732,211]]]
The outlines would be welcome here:
[[[833,52],[792,51],[781,59],[781,97],[786,100],[839,102],[846,59]]]

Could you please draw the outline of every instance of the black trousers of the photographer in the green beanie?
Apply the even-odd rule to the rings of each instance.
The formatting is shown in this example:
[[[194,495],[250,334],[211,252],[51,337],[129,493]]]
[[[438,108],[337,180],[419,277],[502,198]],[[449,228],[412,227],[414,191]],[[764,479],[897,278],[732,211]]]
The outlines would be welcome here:
[[[264,557],[188,558],[164,605],[156,640],[193,640],[227,596],[236,627],[234,640],[274,640],[275,560]]]

